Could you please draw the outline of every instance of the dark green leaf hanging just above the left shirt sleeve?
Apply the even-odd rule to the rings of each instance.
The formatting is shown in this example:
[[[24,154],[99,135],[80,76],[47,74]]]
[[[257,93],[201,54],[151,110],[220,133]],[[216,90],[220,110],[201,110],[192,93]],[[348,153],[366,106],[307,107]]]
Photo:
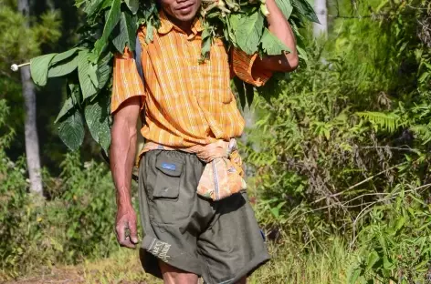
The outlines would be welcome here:
[[[124,47],[129,46],[133,51],[136,47],[136,19],[125,12],[121,12],[118,34],[112,39],[112,44],[119,52],[124,52]]]

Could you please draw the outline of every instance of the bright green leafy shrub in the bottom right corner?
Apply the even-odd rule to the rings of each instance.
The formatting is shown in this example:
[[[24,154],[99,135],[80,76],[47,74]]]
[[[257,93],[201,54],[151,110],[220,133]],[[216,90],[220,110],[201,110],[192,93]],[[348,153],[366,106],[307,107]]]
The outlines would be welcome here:
[[[394,202],[371,210],[370,223],[363,226],[358,236],[362,251],[350,271],[350,283],[370,283],[374,279],[402,284],[431,280],[431,206],[421,195],[428,187],[398,187],[386,198]]]

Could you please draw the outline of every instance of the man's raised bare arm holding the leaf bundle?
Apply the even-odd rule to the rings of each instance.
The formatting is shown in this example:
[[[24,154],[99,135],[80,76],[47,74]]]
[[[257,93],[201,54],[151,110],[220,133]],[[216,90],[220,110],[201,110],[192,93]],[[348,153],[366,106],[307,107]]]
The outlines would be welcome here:
[[[293,35],[292,28],[280,11],[276,1],[267,0],[267,7],[269,12],[267,16],[269,31],[273,35],[276,35],[285,46],[288,46],[291,53],[286,53],[282,56],[266,56],[261,60],[258,59],[253,67],[277,72],[293,71],[300,63],[296,49],[295,35]]]

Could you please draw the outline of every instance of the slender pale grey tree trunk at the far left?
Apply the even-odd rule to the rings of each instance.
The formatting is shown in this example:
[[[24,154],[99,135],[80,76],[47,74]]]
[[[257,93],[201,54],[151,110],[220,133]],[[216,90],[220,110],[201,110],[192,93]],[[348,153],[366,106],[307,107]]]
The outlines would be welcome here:
[[[30,15],[28,0],[18,0],[18,11],[27,18]],[[28,22],[26,26],[29,27]],[[36,89],[30,76],[28,66],[21,68],[21,82],[23,85],[23,96],[26,105],[26,162],[30,176],[30,191],[43,196],[42,176],[40,171],[39,140],[37,137],[36,124]]]

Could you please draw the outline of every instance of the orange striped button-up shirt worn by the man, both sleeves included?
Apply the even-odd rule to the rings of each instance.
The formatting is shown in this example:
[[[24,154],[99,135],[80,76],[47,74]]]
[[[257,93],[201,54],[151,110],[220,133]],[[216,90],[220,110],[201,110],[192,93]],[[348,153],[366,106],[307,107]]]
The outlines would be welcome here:
[[[111,112],[132,96],[141,96],[145,112],[142,136],[167,147],[207,145],[241,136],[244,119],[230,88],[231,76],[262,86],[271,74],[252,67],[257,55],[247,56],[233,49],[230,59],[226,47],[216,39],[210,58],[201,58],[199,20],[192,34],[185,34],[160,13],[161,26],[145,42],[146,29],[140,28],[144,83],[131,52],[114,60]]]

